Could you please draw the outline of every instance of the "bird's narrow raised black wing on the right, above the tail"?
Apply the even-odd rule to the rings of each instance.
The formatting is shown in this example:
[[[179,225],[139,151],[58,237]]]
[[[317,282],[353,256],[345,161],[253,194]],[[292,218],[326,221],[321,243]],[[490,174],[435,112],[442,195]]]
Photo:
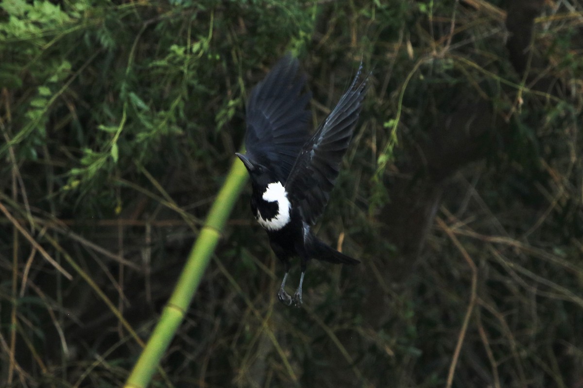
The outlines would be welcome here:
[[[291,200],[300,207],[305,221],[310,224],[317,220],[328,203],[359,118],[368,79],[363,77],[362,70],[361,64],[332,113],[304,144],[285,184]]]

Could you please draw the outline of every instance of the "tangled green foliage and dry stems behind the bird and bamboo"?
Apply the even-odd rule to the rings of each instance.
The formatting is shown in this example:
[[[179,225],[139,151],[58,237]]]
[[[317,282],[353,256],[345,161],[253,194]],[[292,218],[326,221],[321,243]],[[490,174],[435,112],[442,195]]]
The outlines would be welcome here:
[[[247,190],[153,385],[582,387],[582,36],[572,0],[3,1],[0,385],[124,383],[291,50],[314,124],[372,71],[318,232],[363,264],[283,307]]]

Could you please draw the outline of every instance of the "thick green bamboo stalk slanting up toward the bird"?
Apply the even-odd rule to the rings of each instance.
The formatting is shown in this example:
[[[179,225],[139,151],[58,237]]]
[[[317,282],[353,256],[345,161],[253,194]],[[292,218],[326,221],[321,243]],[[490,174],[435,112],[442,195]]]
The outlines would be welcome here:
[[[160,316],[160,321],[152,332],[152,336],[143,348],[138,362],[125,383],[125,388],[145,388],[173,339],[178,326],[184,319],[184,314],[192,301],[192,297],[201,283],[210,258],[219,242],[220,233],[229,218],[231,209],[237,200],[248,174],[243,163],[235,159],[229,175],[224,181],[215,202],[210,208],[201,233],[198,235],[187,262],[178,278],[174,292],[168,300]]]

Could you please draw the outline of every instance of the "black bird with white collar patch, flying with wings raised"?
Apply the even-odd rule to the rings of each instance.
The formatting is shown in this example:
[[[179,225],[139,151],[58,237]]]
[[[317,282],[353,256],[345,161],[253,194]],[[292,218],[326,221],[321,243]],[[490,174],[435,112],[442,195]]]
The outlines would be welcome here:
[[[236,155],[250,175],[251,210],[268,234],[285,275],[278,299],[301,307],[305,270],[310,259],[356,265],[360,261],[336,251],[312,232],[328,202],[367,90],[368,76],[359,66],[338,104],[310,135],[311,93],[307,76],[290,53],[255,86],[245,109],[245,154]],[[300,259],[300,283],[291,297],[285,290],[290,259]]]

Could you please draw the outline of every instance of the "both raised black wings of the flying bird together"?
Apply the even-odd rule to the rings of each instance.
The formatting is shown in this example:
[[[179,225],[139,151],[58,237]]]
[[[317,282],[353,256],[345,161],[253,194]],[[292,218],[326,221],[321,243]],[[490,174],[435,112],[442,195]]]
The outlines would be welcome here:
[[[311,94],[301,94],[306,76],[290,54],[251,91],[247,104],[247,153],[273,170],[305,221],[324,211],[352,138],[367,88],[362,65],[348,90],[310,137]]]

